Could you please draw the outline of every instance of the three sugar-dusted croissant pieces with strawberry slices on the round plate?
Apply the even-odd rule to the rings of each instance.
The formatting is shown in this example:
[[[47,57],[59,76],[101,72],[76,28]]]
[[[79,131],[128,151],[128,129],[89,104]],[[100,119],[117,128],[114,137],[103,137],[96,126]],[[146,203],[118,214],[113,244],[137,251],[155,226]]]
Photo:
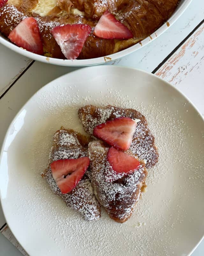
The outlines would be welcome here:
[[[102,205],[123,223],[145,191],[146,168],[158,161],[154,137],[134,109],[87,105],[78,116],[89,136],[63,127],[55,132],[42,177],[85,220],[98,220]]]

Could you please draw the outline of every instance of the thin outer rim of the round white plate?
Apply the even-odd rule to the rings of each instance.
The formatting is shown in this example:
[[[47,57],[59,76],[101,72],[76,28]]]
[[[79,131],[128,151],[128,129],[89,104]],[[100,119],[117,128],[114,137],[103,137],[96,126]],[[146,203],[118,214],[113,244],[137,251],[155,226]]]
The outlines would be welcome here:
[[[149,73],[145,70],[142,70],[142,69],[138,69],[138,68],[134,68],[134,67],[124,67],[124,66],[105,66],[105,65],[98,65],[98,66],[92,66],[92,67],[85,67],[85,68],[79,68],[77,70],[74,70],[74,71],[71,71],[69,73],[66,73],[62,76],[59,76],[57,78],[55,78],[54,80],[50,81],[49,83],[43,85],[37,92],[35,92],[26,102],[25,104],[20,108],[20,110],[18,111],[18,113],[14,116],[14,118],[11,120],[11,123],[9,124],[7,130],[6,130],[6,133],[5,133],[5,136],[4,136],[4,140],[3,140],[3,143],[2,143],[2,146],[0,148],[0,164],[1,164],[1,161],[2,161],[2,156],[3,156],[3,151],[4,151],[4,147],[5,147],[5,142],[6,142],[6,139],[8,137],[8,134],[9,134],[9,131],[11,129],[11,125],[13,125],[13,123],[15,122],[15,120],[17,119],[17,117],[19,116],[19,114],[22,112],[23,108],[25,107],[25,105],[28,104],[28,102],[37,94],[39,93],[41,90],[43,90],[45,87],[49,86],[51,83],[55,82],[56,80],[60,80],[62,79],[62,77],[66,77],[66,76],[69,76],[69,74],[72,74],[72,73],[77,73],[79,71],[81,71],[82,69],[93,69],[93,68],[113,68],[113,69],[129,69],[129,70],[132,70],[132,71],[139,71],[145,75],[149,75],[149,76],[152,76],[152,77],[155,77],[157,78],[158,80],[162,81],[164,84],[167,84],[168,86],[170,86],[172,89],[174,89],[176,92],[179,92],[181,94],[181,96],[183,96],[188,102],[189,104],[192,105],[192,107],[197,111],[197,113],[199,114],[199,116],[201,117],[202,121],[203,121],[203,125],[204,125],[204,116],[202,116],[201,112],[198,110],[198,108],[194,105],[194,103],[188,99],[188,97],[183,93],[181,92],[177,87],[175,87],[174,85],[172,85],[171,83],[165,81],[163,78],[155,75],[155,74],[152,74],[152,73]],[[3,200],[2,200],[2,193],[1,193],[1,188],[0,188],[0,206],[2,207],[2,211],[3,211],[3,215],[4,215],[4,218],[6,220],[6,224],[7,226],[10,228],[13,236],[16,238],[16,240],[18,241],[17,237],[15,236],[15,234],[13,233],[12,231],[12,228],[10,227],[10,224],[8,223],[8,219],[5,215],[5,212],[4,212],[4,206],[3,206]],[[199,244],[201,243],[201,241],[204,239],[204,231],[203,231],[203,236],[200,238],[199,242],[195,245],[195,247],[192,249],[191,252],[189,252],[186,256],[190,256],[194,251],[195,249],[199,246]],[[24,246],[18,241],[18,243],[21,245],[21,247],[25,250]],[[26,252],[26,250],[25,250]]]

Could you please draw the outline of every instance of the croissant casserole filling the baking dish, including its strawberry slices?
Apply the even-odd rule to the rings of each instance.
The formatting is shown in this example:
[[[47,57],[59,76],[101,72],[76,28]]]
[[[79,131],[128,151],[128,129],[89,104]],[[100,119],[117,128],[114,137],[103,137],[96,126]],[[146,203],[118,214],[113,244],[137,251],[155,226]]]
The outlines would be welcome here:
[[[0,0],[0,32],[27,51],[90,59],[151,35],[179,0]]]

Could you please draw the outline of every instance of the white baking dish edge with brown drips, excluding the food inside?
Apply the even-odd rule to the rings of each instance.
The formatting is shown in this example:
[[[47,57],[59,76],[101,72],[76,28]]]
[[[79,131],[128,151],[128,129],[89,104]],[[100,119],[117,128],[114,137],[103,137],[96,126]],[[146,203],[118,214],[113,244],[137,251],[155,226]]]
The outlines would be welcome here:
[[[24,55],[25,57],[28,57],[33,60],[38,60],[45,63],[55,64],[55,65],[61,65],[61,66],[92,66],[92,65],[98,65],[105,63],[109,60],[116,60],[121,57],[124,57],[132,52],[135,52],[136,50],[140,49],[141,47],[149,44],[151,41],[153,41],[157,36],[160,36],[164,31],[167,30],[169,26],[171,26],[179,17],[180,15],[186,10],[188,5],[190,4],[192,0],[180,0],[179,5],[176,9],[176,11],[173,13],[173,15],[169,18],[169,20],[164,23],[160,28],[158,28],[153,34],[151,34],[149,37],[142,40],[142,42],[139,44],[135,44],[123,51],[116,52],[114,54],[110,54],[104,57],[99,58],[93,58],[93,59],[87,59],[87,60],[62,60],[62,59],[56,59],[56,58],[48,58],[45,56],[41,56],[39,54],[35,54],[33,52],[25,51],[24,49],[16,46],[15,44],[12,44],[10,41],[8,41],[4,36],[0,34],[0,43],[8,47],[9,49],[18,52],[19,54]]]

